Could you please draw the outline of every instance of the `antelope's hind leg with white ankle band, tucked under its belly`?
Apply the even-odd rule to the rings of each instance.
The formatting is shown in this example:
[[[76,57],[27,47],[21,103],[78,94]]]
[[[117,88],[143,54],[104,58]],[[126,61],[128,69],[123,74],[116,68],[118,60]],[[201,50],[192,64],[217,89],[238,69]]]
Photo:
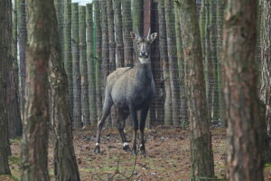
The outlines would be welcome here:
[[[126,124],[126,118],[129,116],[129,112],[125,110],[118,109],[117,112],[117,129],[121,138],[121,141],[123,143],[123,150],[125,151],[131,151],[131,148],[129,147],[127,140],[126,140],[126,134],[124,132],[125,124]]]

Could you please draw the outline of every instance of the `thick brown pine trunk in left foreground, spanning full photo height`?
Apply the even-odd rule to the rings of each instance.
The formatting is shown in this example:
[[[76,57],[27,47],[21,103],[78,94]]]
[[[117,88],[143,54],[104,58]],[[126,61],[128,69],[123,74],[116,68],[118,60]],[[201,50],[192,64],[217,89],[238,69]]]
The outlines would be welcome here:
[[[23,115],[22,180],[50,180],[48,173],[49,85],[53,1],[28,0],[26,94]],[[41,24],[42,22],[42,24]]]

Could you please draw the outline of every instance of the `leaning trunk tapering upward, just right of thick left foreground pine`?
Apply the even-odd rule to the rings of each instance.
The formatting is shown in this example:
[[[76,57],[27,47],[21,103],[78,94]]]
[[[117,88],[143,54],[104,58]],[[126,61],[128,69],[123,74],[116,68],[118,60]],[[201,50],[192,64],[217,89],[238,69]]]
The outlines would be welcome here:
[[[52,0],[49,11],[52,14],[51,24],[51,57],[49,62],[49,80],[51,85],[51,122],[54,137],[54,171],[57,181],[79,181],[79,169],[76,163],[72,143],[72,126],[68,99],[68,78],[64,70],[61,53],[61,38],[57,16]]]

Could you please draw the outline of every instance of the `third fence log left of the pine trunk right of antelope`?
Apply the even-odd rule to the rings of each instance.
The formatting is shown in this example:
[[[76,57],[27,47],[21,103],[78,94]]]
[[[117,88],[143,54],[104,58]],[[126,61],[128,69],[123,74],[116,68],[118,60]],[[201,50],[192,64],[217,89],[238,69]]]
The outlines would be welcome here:
[[[169,65],[167,55],[167,43],[166,43],[166,28],[165,28],[165,14],[164,14],[164,0],[158,2],[158,14],[159,14],[159,50],[160,58],[163,65],[163,77],[164,77],[164,124],[170,126],[173,124],[173,112],[172,112],[172,97],[171,97],[171,84],[169,76]]]

